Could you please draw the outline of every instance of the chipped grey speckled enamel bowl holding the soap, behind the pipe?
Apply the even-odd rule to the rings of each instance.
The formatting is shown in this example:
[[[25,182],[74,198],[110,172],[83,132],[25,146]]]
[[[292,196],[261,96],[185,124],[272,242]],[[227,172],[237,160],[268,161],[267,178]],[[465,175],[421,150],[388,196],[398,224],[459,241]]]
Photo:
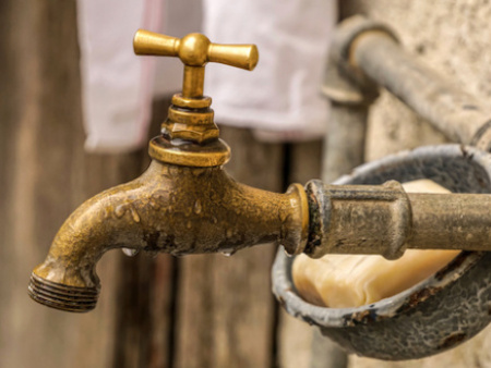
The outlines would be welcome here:
[[[457,145],[418,148],[364,164],[336,184],[418,179],[430,179],[455,193],[489,194],[491,158]],[[292,261],[278,252],[273,268],[278,300],[290,315],[320,327],[324,335],[361,356],[403,360],[438,354],[470,339],[491,321],[491,253],[463,252],[446,268],[403,293],[344,309],[304,302],[291,280]]]

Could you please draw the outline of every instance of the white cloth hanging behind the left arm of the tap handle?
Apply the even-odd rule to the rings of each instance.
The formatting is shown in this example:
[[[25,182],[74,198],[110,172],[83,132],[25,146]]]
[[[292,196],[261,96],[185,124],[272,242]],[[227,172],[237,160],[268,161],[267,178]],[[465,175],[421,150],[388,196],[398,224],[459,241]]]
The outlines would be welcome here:
[[[88,151],[146,143],[155,58],[136,57],[137,28],[160,30],[161,0],[77,1],[84,126]]]

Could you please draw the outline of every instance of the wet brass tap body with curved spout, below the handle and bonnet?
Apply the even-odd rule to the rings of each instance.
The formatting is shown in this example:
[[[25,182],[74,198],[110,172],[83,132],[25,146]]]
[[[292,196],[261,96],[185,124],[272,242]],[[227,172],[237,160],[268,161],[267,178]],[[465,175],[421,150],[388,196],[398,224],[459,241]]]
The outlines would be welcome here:
[[[29,295],[58,309],[95,308],[96,263],[113,248],[187,255],[278,241],[301,253],[308,216],[298,184],[276,194],[237,183],[221,167],[153,160],[142,176],[96,195],[69,217],[34,269]]]

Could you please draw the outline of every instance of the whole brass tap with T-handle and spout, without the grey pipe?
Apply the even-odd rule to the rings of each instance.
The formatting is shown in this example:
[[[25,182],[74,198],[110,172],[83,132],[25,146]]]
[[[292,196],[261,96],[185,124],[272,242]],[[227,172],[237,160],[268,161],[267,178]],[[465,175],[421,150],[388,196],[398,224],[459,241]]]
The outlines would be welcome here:
[[[253,70],[254,45],[212,44],[204,35],[181,39],[139,30],[136,54],[179,57],[182,94],[172,97],[161,135],[149,143],[152,163],[134,181],[105,191],[64,222],[44,263],[31,277],[31,297],[69,311],[88,311],[100,289],[96,262],[109,249],[172,255],[233,253],[279,241],[299,254],[307,243],[308,201],[303,187],[286,194],[237,183],[223,169],[230,148],[218,137],[203,96],[207,62]]]

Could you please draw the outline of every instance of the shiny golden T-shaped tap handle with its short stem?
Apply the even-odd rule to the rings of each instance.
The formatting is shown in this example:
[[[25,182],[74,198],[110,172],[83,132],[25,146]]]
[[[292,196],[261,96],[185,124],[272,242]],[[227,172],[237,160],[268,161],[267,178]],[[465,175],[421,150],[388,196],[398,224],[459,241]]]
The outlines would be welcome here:
[[[259,60],[255,45],[212,44],[202,34],[189,34],[179,39],[139,29],[134,35],[133,49],[142,56],[179,57],[184,64],[184,99],[203,97],[204,66],[207,62],[252,71]]]

